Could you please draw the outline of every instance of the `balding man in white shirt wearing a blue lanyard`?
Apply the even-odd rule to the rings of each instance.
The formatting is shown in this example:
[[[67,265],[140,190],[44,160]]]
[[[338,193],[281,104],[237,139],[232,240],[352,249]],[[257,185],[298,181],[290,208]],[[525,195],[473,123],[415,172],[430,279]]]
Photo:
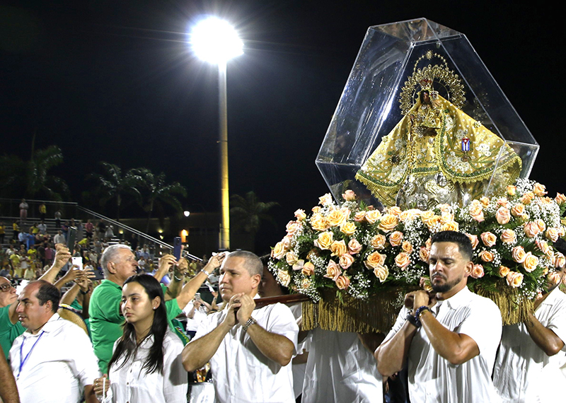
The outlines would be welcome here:
[[[21,402],[98,402],[92,382],[98,366],[85,332],[57,314],[59,290],[33,281],[18,297],[16,313],[27,330],[10,350]]]

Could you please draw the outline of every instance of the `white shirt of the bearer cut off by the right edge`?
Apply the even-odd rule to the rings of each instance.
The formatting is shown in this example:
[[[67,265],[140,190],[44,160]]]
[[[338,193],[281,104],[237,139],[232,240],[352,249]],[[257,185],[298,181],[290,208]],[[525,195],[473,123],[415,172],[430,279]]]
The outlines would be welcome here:
[[[535,317],[565,342],[562,351],[547,356],[524,323],[503,327],[493,370],[493,382],[504,402],[561,402],[566,378],[560,371],[566,351],[566,296],[555,288],[538,305]]]

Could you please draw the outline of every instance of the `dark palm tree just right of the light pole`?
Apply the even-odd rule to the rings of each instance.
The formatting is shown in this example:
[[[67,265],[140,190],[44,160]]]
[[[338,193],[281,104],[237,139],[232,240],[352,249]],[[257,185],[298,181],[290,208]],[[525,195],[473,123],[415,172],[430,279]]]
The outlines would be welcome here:
[[[277,202],[260,202],[255,192],[246,193],[246,197],[239,194],[232,194],[230,197],[230,214],[233,216],[234,228],[240,228],[244,232],[249,233],[252,238],[252,245],[255,245],[255,234],[260,230],[262,221],[269,221],[275,228],[277,223],[267,211],[275,206],[279,206]]]

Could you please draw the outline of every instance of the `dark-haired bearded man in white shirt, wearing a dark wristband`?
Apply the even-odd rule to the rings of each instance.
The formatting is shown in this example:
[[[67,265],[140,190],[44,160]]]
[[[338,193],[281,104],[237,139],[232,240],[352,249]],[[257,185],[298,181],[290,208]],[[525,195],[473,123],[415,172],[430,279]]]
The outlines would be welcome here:
[[[408,293],[405,308],[376,349],[384,377],[408,365],[411,402],[501,401],[491,380],[501,313],[491,300],[468,290],[472,257],[465,234],[434,234],[429,271],[435,294]]]

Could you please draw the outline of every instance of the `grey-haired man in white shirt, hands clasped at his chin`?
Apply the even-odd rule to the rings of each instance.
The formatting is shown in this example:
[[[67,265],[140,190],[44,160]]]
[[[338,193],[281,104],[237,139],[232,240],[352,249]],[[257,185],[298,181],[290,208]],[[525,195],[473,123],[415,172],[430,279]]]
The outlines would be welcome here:
[[[251,252],[231,253],[221,266],[219,313],[206,317],[183,349],[185,370],[210,362],[216,399],[221,402],[295,401],[291,358],[299,327],[282,304],[254,310],[263,265]]]

